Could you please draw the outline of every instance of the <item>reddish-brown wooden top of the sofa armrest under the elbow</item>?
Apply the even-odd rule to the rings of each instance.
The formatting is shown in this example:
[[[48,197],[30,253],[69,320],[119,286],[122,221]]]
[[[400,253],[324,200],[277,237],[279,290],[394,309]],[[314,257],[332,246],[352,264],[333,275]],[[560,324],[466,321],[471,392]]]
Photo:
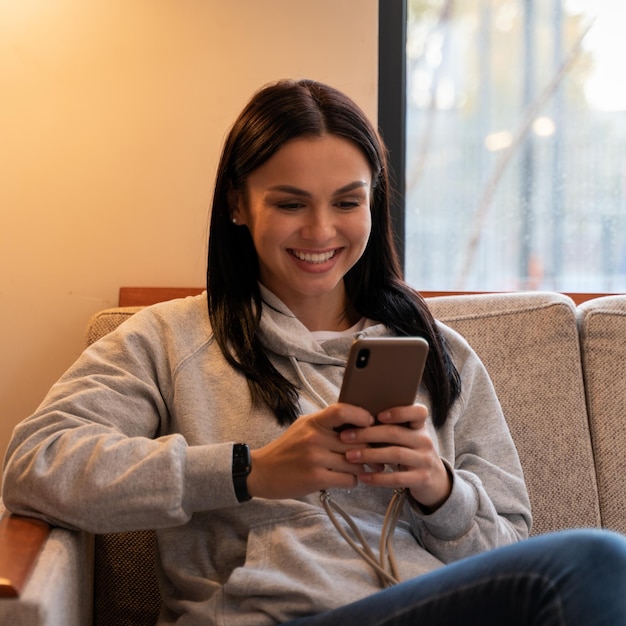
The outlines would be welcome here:
[[[5,513],[0,519],[0,598],[17,598],[50,534],[41,520]]]

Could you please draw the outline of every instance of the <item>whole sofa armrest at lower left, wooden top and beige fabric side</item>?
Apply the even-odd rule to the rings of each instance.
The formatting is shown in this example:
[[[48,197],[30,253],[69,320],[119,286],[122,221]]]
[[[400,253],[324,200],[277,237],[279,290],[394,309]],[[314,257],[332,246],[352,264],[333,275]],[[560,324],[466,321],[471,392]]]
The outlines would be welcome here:
[[[0,514],[0,624],[91,624],[93,536]]]

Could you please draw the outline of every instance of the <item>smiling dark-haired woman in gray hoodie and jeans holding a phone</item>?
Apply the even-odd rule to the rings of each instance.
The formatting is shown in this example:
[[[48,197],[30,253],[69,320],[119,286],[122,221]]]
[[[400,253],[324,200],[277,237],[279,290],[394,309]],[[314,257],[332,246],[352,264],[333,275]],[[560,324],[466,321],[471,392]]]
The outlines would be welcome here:
[[[7,507],[156,528],[161,624],[619,623],[602,583],[626,583],[620,539],[518,543],[530,507],[499,404],[401,280],[389,194],[384,148],[345,95],[257,93],[223,150],[207,293],[81,356],[15,431]],[[374,423],[337,396],[354,338],[388,335],[431,349],[417,402]],[[611,557],[589,580],[594,554]]]

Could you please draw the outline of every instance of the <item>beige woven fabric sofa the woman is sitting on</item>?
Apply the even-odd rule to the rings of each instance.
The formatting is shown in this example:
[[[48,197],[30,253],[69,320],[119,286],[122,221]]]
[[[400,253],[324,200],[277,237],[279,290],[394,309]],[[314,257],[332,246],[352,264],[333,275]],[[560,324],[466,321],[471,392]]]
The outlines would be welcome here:
[[[626,296],[578,307],[554,293],[429,303],[435,317],[469,340],[491,374],[524,467],[533,534],[570,527],[626,532]],[[135,311],[99,313],[88,341]],[[92,613],[97,624],[154,623],[152,542],[151,532],[94,541],[53,529],[20,597],[0,600],[0,624],[84,626]],[[13,575],[2,568],[15,543],[11,530],[0,527],[0,578]],[[11,581],[2,584],[10,593]]]

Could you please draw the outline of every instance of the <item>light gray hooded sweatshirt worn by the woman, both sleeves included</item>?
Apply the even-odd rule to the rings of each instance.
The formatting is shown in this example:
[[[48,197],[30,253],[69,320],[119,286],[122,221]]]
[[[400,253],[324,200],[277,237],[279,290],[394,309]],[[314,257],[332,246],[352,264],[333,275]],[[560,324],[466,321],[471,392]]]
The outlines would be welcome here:
[[[320,345],[263,293],[261,340],[300,388],[302,414],[336,402],[354,337]],[[530,527],[522,470],[489,377],[463,338],[441,331],[463,391],[445,426],[430,431],[453,488],[431,515],[405,505],[394,539],[402,579],[517,541]],[[374,324],[360,334],[389,332]],[[417,401],[429,404],[423,389]],[[233,442],[257,448],[282,430],[268,410],[252,407],[245,378],[220,352],[206,294],[167,302],[88,348],[17,426],[3,498],[15,513],[94,533],[156,528],[160,624],[276,624],[379,589],[319,494],[238,503]],[[360,485],[332,497],[376,547],[390,492]]]

